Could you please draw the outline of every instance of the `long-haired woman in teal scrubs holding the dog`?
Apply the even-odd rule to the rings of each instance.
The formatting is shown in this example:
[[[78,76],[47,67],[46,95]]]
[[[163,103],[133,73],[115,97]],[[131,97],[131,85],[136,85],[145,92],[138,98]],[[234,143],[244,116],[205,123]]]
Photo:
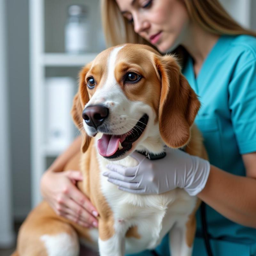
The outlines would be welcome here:
[[[101,2],[103,26],[110,45],[147,43],[162,53],[178,55],[183,74],[202,103],[195,123],[204,136],[211,163],[203,173],[198,168],[203,163],[200,159],[195,165],[193,157],[174,150],[172,160],[167,155],[161,166],[166,167],[167,176],[172,173],[168,170],[175,168],[182,185],[156,187],[155,184],[164,184],[162,181],[166,179],[165,175],[158,175],[158,169],[163,169],[159,166],[152,170],[156,183],[142,179],[143,170],[149,168],[147,159],[139,168],[130,170],[132,186],[131,177],[120,176],[124,173],[120,166],[110,166],[106,174],[109,181],[131,193],[187,189],[209,205],[206,216],[214,255],[256,255],[256,34],[240,27],[217,0]],[[70,193],[66,192],[63,199],[66,209],[62,206],[60,212],[71,218],[76,216],[74,209],[78,208],[74,203],[75,188],[71,187],[67,175],[54,173],[54,168],[61,170],[61,163],[71,155],[69,151],[65,154],[66,158],[60,156],[44,175],[42,190],[46,200],[56,205],[50,177],[59,175],[59,182],[61,179],[69,182]],[[177,160],[180,154],[182,161]],[[184,173],[184,164],[190,169],[189,176]],[[80,177],[73,177],[76,179]],[[84,201],[84,215],[76,217],[92,225],[95,219],[89,212],[95,209],[88,200]],[[199,214],[197,227],[193,255],[206,255]],[[169,254],[167,240],[156,248],[159,255]]]

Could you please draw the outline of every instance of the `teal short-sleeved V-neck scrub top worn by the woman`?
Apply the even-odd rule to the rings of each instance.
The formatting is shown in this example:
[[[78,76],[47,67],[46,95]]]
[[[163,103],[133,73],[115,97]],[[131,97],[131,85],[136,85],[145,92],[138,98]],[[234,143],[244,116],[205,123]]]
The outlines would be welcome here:
[[[203,134],[210,163],[245,176],[241,154],[256,151],[256,38],[220,36],[198,76],[195,78],[191,57],[183,74],[201,102],[195,123]],[[193,255],[204,256],[207,253],[199,211],[196,218]],[[206,218],[214,256],[256,255],[256,229],[236,224],[209,206],[206,206]],[[168,256],[168,250],[165,237],[156,251]]]

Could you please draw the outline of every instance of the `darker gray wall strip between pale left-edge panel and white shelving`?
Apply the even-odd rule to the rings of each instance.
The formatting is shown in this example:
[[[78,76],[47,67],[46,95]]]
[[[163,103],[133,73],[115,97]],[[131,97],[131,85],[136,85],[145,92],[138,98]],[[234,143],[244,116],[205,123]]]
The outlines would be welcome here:
[[[19,219],[30,209],[28,0],[6,0],[6,4],[12,196],[14,216]]]

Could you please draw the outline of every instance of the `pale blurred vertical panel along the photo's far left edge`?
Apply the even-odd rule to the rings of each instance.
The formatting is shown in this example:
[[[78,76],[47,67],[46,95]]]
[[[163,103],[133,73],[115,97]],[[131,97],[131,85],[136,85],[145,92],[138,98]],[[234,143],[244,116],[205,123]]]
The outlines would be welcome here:
[[[6,2],[0,0],[0,247],[14,242],[12,227],[9,111],[7,96]]]

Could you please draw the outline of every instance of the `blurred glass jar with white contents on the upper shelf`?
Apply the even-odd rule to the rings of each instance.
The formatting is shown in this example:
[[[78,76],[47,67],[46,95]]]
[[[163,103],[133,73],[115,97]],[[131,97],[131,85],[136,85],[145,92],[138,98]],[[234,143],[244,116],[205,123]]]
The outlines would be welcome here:
[[[68,7],[65,28],[65,49],[68,53],[84,53],[89,50],[89,24],[86,6],[73,4]]]

